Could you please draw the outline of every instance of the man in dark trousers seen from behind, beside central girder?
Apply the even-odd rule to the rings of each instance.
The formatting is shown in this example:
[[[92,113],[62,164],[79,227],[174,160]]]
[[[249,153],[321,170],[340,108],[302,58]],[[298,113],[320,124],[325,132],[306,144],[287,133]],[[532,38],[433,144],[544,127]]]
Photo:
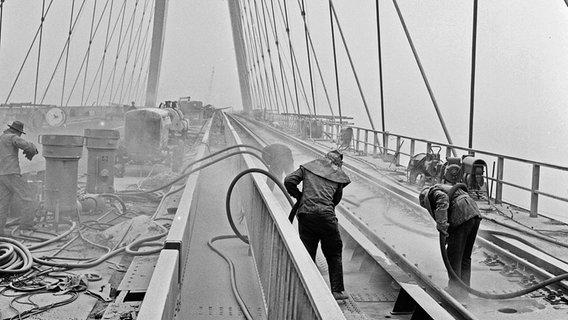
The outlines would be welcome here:
[[[347,299],[343,285],[343,242],[339,234],[335,206],[341,201],[343,188],[351,180],[343,172],[343,155],[333,150],[323,159],[307,162],[284,179],[286,191],[297,200],[300,239],[312,260],[318,244],[329,269],[329,282],[336,300]],[[302,191],[298,184],[302,182]]]

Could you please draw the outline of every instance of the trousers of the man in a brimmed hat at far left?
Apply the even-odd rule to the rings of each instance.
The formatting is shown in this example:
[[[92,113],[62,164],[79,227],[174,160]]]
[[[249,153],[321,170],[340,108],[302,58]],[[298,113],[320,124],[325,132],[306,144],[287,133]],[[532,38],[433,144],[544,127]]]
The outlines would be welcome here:
[[[0,175],[0,234],[4,232],[13,200],[18,200],[20,225],[33,225],[34,202],[28,182],[19,174]]]

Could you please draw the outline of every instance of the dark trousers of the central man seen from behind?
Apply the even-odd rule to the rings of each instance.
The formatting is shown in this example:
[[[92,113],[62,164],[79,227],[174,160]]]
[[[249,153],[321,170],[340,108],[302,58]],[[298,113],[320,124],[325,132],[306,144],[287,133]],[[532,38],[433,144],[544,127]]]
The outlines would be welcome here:
[[[318,243],[327,261],[332,292],[345,290],[343,286],[343,242],[339,234],[337,217],[329,214],[301,214],[298,217],[300,239],[314,262]]]

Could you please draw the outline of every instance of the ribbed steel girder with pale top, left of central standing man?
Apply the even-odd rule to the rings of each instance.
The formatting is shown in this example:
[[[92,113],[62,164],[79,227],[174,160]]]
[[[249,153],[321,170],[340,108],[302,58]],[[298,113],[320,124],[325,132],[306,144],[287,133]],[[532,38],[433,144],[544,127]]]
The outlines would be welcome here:
[[[235,129],[225,121],[227,143],[241,144]],[[235,159],[233,165],[235,174],[258,167],[248,154]],[[246,199],[238,205],[245,212],[268,319],[345,319],[298,232],[288,221],[289,209],[280,205],[266,185],[266,177],[248,175],[238,185],[234,198]],[[235,203],[232,210],[239,210]]]

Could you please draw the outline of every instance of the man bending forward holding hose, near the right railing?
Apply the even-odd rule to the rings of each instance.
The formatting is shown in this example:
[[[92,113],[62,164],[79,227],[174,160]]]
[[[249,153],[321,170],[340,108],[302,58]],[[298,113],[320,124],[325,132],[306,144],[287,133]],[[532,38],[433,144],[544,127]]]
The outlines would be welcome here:
[[[456,184],[461,174],[460,166],[449,165],[441,184],[422,189],[420,205],[428,210],[436,220],[440,233],[447,236],[446,253],[453,271],[466,285],[471,280],[471,254],[477,231],[481,222],[481,213],[463,183]],[[452,198],[448,195],[451,190]],[[448,270],[448,292],[456,298],[467,297],[465,291]]]

